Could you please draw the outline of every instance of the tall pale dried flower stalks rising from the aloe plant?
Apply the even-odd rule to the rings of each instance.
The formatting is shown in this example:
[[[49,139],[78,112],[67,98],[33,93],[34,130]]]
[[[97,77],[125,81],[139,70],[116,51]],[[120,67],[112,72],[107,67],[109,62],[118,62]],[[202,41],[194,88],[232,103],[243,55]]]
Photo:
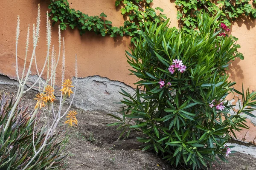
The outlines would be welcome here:
[[[8,129],[8,127],[10,125],[10,122],[12,120],[12,117],[15,113],[15,110],[17,109],[18,104],[19,104],[20,99],[22,98],[23,94],[25,94],[26,92],[31,90],[38,83],[38,81],[39,81],[39,86],[41,86],[41,82],[44,85],[44,88],[42,89],[42,93],[44,93],[44,90],[45,90],[46,86],[49,83],[50,83],[50,85],[52,85],[53,88],[55,86],[56,70],[57,70],[58,61],[59,61],[59,58],[60,58],[60,55],[61,55],[61,31],[60,31],[60,26],[58,27],[59,51],[58,51],[58,59],[56,59],[56,51],[55,51],[54,45],[51,45],[52,31],[51,31],[51,23],[50,23],[50,20],[49,20],[49,17],[48,17],[48,11],[47,11],[47,27],[46,27],[46,30],[47,30],[46,31],[46,34],[47,34],[47,54],[46,54],[46,58],[45,58],[43,68],[42,68],[41,72],[39,72],[38,67],[37,67],[37,62],[36,62],[36,54],[35,54],[36,51],[35,50],[36,50],[36,47],[38,45],[38,41],[39,41],[39,37],[40,37],[40,35],[39,35],[39,33],[40,33],[40,23],[41,23],[41,20],[40,20],[40,6],[38,5],[37,23],[36,23],[36,26],[35,26],[35,24],[33,24],[33,31],[32,31],[32,34],[33,34],[33,36],[32,36],[33,37],[33,51],[32,51],[32,55],[30,57],[29,67],[28,67],[27,72],[26,72],[26,61],[27,61],[27,54],[28,54],[28,49],[29,49],[29,37],[30,37],[30,30],[29,30],[29,27],[28,27],[27,38],[26,38],[26,54],[25,54],[22,76],[21,76],[21,79],[20,79],[19,72],[18,72],[18,57],[17,57],[17,45],[18,45],[18,39],[20,37],[20,17],[19,16],[17,17],[16,67],[15,67],[15,70],[16,70],[16,74],[17,74],[17,79],[19,81],[19,88],[18,88],[18,93],[17,93],[17,96],[16,96],[15,103],[14,103],[13,108],[12,108],[10,114],[9,114],[9,118],[7,120],[7,123],[4,127],[4,132],[6,132],[6,130]],[[63,40],[63,48],[62,48],[61,83],[64,82],[64,76],[65,76],[65,46],[64,46],[65,42],[64,42],[64,37],[63,37],[62,40]],[[51,59],[50,59],[49,51],[50,51],[51,48],[52,48],[52,52],[51,52]],[[77,55],[76,55],[75,58],[76,58],[75,59],[75,74],[76,74],[76,76],[75,76],[76,80],[75,81],[76,81],[76,84],[77,84]],[[35,68],[36,68],[36,72],[37,72],[37,75],[38,75],[38,79],[33,83],[33,85],[30,88],[28,88],[25,91],[24,87],[26,85],[26,82],[29,79],[29,74],[30,74],[30,71],[31,71],[31,68],[32,68],[33,59],[35,59]],[[42,77],[42,74],[44,73],[45,68],[47,68],[47,78],[46,78],[46,82],[44,83],[42,81],[41,77]],[[41,93],[41,90],[40,90],[40,93]],[[63,100],[62,93],[61,93],[61,97],[60,97],[60,105],[58,106],[58,113],[56,113],[56,114],[54,113],[53,104],[52,103],[50,104],[50,107],[48,108],[47,122],[45,122],[45,124],[42,127],[42,132],[45,135],[45,137],[43,139],[41,139],[41,136],[43,136],[43,133],[41,133],[40,136],[39,136],[39,139],[37,139],[37,141],[35,141],[35,136],[36,136],[37,130],[36,130],[36,127],[34,126],[34,129],[33,129],[33,150],[34,150],[35,154],[34,154],[34,156],[32,156],[32,158],[29,160],[29,162],[26,163],[26,166],[23,168],[23,170],[26,170],[26,168],[29,167],[29,165],[32,164],[33,161],[36,161],[35,159],[38,155],[39,155],[39,157],[41,156],[42,152],[44,151],[45,146],[47,146],[47,144],[49,144],[48,143],[49,138],[55,133],[55,130],[57,128],[58,123],[69,111],[69,109],[72,105],[75,93],[76,93],[76,85],[75,85],[75,90],[74,90],[73,97],[71,99],[71,103],[70,103],[68,109],[63,114],[61,114],[61,108],[62,108],[63,102],[65,100]],[[34,119],[40,119],[40,118],[38,118],[38,116],[36,116],[38,111],[39,111],[39,108],[35,108],[33,110],[33,114],[32,114],[32,116],[29,120],[29,124]],[[50,122],[50,119],[49,119],[49,116],[50,116],[51,113],[54,115],[54,120],[52,120],[52,122]],[[38,145],[38,142],[39,142],[38,140],[41,140],[40,142],[42,142],[42,144],[39,148],[36,148],[35,146]]]

